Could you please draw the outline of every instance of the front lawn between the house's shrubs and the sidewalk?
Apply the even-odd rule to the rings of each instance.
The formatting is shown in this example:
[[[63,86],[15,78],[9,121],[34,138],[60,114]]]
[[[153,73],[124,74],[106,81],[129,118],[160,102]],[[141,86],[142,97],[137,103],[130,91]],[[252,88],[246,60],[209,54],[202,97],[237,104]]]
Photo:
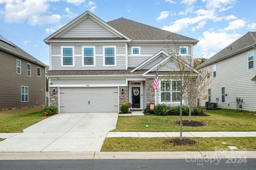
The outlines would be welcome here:
[[[256,131],[253,112],[221,109],[205,113],[210,116],[192,116],[192,120],[203,121],[204,127],[183,126],[183,131]],[[183,120],[186,119],[188,116],[183,116]],[[179,120],[179,116],[119,116],[113,131],[178,132],[179,125],[174,123],[175,120]]]

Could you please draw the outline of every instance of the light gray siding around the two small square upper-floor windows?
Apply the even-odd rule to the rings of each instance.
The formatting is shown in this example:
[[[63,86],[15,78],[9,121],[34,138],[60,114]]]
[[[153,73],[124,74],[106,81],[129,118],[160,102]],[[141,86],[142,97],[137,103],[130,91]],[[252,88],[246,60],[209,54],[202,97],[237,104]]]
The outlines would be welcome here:
[[[141,55],[131,55],[131,47],[132,46],[140,46]],[[191,45],[181,45],[181,46],[188,46],[188,55],[191,55]],[[174,46],[171,46],[174,48]],[[156,54],[157,52],[164,50],[167,51],[167,44],[128,44],[128,67],[133,68],[137,67],[143,61],[150,58],[152,55]]]

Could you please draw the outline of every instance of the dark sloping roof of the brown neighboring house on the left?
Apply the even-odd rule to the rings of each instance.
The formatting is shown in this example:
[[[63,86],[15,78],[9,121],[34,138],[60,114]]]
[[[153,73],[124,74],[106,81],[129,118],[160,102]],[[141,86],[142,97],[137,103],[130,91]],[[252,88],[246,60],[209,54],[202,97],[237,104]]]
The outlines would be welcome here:
[[[39,66],[47,67],[44,63],[34,58],[34,56],[22,50],[20,47],[13,44],[8,39],[4,38],[2,35],[0,35],[0,50],[18,56],[19,58],[28,60],[30,62],[33,62],[35,64],[38,64]]]

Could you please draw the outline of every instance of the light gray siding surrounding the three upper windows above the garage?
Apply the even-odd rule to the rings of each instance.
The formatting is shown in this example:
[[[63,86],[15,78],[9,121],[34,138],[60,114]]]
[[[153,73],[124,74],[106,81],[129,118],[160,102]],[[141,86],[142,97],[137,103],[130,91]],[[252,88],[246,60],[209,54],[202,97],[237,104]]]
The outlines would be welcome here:
[[[61,45],[51,45],[52,70],[123,70],[125,69],[125,44],[63,44],[75,46],[75,67],[61,67]],[[95,67],[82,67],[82,46],[95,46]],[[116,46],[116,67],[103,67],[103,46]]]

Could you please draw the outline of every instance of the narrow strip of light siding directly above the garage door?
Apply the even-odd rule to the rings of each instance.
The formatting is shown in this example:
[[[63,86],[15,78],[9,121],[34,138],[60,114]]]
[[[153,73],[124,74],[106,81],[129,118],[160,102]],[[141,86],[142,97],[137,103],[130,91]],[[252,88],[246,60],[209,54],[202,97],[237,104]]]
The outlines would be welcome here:
[[[58,85],[125,85],[126,79],[53,79],[51,78],[53,86]]]

